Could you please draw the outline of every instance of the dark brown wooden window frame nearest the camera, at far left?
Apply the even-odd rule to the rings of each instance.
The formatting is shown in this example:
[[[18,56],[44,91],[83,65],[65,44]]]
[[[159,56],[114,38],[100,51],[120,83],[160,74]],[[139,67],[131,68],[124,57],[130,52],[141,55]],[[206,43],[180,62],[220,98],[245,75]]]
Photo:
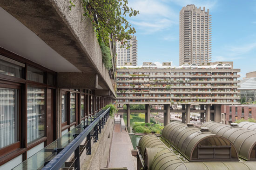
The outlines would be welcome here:
[[[0,84],[8,84],[7,88],[11,88],[10,85],[17,85],[20,86],[20,111],[19,111],[19,143],[15,145],[14,148],[10,148],[10,150],[8,149],[7,151],[3,151],[0,149],[0,165],[7,163],[8,161],[12,160],[13,158],[23,154],[23,161],[27,158],[27,154],[26,152],[28,150],[30,150],[31,148],[33,148],[34,146],[44,142],[45,145],[46,141],[47,141],[47,115],[45,116],[45,135],[44,137],[41,137],[39,139],[36,139],[34,141],[32,141],[31,143],[27,144],[27,86],[32,86],[32,87],[39,87],[39,88],[52,88],[52,89],[56,89],[56,85],[49,85],[47,84],[47,80],[48,80],[48,74],[50,73],[54,76],[54,78],[56,79],[57,73],[54,72],[53,70],[47,69],[43,66],[41,66],[40,64],[34,63],[22,56],[19,56],[17,54],[14,54],[8,50],[5,50],[3,48],[0,47],[0,55],[13,59],[17,62],[23,63],[25,64],[24,69],[22,69],[22,76],[19,77],[14,77],[14,76],[8,76],[8,75],[2,75],[0,74]],[[27,66],[33,67],[35,69],[39,69],[41,71],[44,72],[44,82],[40,83],[40,82],[34,82],[34,81],[29,81],[27,80]],[[56,81],[56,80],[54,80]],[[56,82],[55,82],[56,84]],[[47,95],[45,95],[45,100],[47,99]],[[56,104],[56,94],[54,94],[54,102]],[[45,102],[45,105],[47,106],[47,101]],[[46,109],[47,110],[47,109]],[[47,113],[47,111],[46,111]],[[57,108],[54,108],[54,116],[57,113]],[[55,130],[53,130],[54,136],[56,137],[57,134],[57,121],[55,120],[54,123],[55,126]],[[54,138],[55,138],[54,137]],[[14,145],[13,145],[14,146]],[[9,146],[7,146],[9,147]],[[6,148],[6,147],[4,147]],[[14,149],[14,150],[13,150]],[[8,152],[10,151],[10,152]],[[7,153],[8,152],[8,153]],[[4,154],[1,154],[4,153]]]

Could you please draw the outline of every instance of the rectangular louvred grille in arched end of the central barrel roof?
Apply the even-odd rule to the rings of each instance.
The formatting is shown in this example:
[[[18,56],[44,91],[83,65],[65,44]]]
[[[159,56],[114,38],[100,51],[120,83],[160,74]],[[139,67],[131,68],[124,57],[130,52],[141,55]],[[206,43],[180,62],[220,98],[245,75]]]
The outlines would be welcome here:
[[[230,148],[198,147],[198,159],[230,159]]]

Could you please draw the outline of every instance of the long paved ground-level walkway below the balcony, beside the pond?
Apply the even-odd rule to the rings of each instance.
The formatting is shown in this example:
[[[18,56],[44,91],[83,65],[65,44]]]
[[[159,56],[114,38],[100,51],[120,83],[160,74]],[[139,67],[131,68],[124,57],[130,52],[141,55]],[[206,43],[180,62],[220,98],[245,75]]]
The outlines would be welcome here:
[[[120,119],[119,116],[118,118]],[[127,167],[128,170],[136,170],[137,160],[132,156],[133,145],[128,132],[122,129],[119,123],[114,125],[112,148],[110,152],[109,168]]]

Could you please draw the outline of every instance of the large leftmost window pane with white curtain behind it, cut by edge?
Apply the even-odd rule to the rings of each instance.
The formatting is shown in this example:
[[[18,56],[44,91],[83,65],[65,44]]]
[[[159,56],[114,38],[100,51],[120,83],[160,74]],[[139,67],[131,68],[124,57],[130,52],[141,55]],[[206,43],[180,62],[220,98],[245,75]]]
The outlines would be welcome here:
[[[0,148],[18,141],[18,89],[0,88]]]

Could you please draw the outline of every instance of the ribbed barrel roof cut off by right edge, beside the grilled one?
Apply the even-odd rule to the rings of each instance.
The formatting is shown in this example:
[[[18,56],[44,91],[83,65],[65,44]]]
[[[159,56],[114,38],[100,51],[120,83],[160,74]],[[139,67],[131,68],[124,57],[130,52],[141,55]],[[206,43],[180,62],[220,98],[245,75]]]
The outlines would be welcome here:
[[[256,160],[256,131],[213,121],[206,122],[201,127],[208,127],[210,132],[229,139],[235,145],[240,157]]]

